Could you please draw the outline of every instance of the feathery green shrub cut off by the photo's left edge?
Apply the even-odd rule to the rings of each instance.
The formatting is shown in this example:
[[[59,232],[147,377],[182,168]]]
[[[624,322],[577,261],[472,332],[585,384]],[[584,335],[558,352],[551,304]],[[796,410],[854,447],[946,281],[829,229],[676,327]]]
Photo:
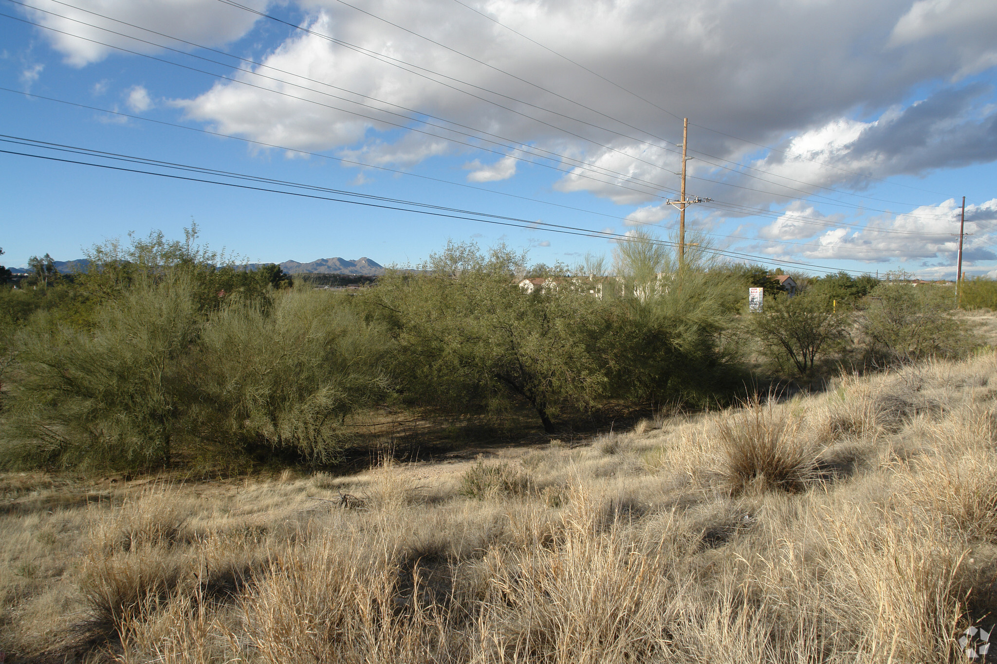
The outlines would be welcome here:
[[[5,465],[168,463],[181,430],[182,355],[196,333],[183,278],[105,303],[94,332],[36,317],[19,344]]]

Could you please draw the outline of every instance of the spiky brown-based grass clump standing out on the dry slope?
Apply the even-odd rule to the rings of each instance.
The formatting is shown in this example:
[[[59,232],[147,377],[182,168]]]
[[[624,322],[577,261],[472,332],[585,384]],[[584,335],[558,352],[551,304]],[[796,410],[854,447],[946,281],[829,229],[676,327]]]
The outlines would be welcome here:
[[[803,491],[815,478],[820,451],[800,420],[756,399],[717,420],[722,453],[719,475],[732,495],[749,490]]]

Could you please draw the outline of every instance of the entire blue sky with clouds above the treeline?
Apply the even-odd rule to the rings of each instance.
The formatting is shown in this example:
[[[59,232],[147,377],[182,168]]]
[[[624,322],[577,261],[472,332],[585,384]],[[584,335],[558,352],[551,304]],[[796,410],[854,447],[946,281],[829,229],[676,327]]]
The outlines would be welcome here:
[[[716,248],[815,273],[951,278],[966,196],[964,269],[997,276],[989,0],[3,0],[0,12],[0,149],[178,173],[10,142],[27,138],[668,238],[688,116],[687,190],[713,201],[687,226]],[[614,247],[18,154],[0,153],[0,170],[9,266],[129,231],[178,237],[191,219],[254,262],[415,263],[448,238],[545,263]]]

